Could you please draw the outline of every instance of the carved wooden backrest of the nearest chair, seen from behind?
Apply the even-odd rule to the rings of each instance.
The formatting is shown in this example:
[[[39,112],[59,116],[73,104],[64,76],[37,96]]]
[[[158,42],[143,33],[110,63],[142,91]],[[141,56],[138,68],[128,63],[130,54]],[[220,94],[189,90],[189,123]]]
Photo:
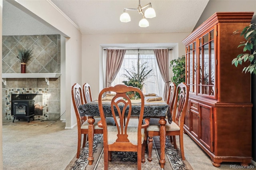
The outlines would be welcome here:
[[[104,111],[103,111],[103,106],[102,106],[102,97],[103,94],[111,91],[111,92],[115,92],[116,95],[113,97],[112,101],[111,101],[111,111],[112,111],[112,116],[114,118],[114,121],[116,123],[117,128],[117,139],[116,142],[120,142],[120,143],[114,143],[114,145],[116,145],[116,147],[120,147],[120,149],[124,146],[131,145],[129,144],[129,140],[128,140],[128,134],[127,134],[127,129],[128,129],[128,125],[129,125],[129,120],[131,117],[131,113],[132,113],[132,103],[130,98],[126,95],[126,92],[129,91],[136,91],[138,92],[142,97],[141,97],[141,110],[140,110],[140,117],[139,117],[139,125],[138,125],[138,140],[141,140],[141,125],[142,125],[142,119],[143,119],[143,113],[144,113],[144,96],[143,93],[140,89],[136,88],[136,87],[131,87],[131,86],[126,86],[126,85],[116,85],[114,87],[108,87],[103,89],[100,94],[99,94],[99,98],[98,98],[98,103],[99,103],[99,110],[100,110],[100,117],[102,120],[102,126],[103,126],[103,138],[104,138],[104,143],[107,143],[107,139],[108,139],[108,130],[107,130],[107,125],[106,125],[106,121],[105,121],[105,115],[104,115]],[[124,105],[123,109],[119,109],[120,104]],[[114,109],[116,108],[116,109]],[[128,108],[128,112],[125,112],[126,109]],[[118,113],[116,113],[115,111],[117,111]],[[117,117],[119,117],[119,119],[117,119]],[[126,123],[124,123],[124,119],[126,119]],[[120,120],[120,121],[119,121]],[[121,151],[121,150],[119,150]]]

